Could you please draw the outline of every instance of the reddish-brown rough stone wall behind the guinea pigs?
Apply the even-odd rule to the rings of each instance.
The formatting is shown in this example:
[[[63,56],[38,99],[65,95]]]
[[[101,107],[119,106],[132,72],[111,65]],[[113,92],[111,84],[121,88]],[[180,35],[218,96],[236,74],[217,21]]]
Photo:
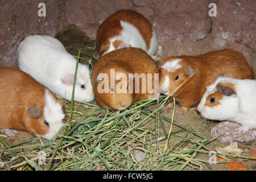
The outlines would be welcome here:
[[[46,17],[38,4],[46,4]],[[217,5],[210,17],[209,3]],[[0,66],[17,67],[16,49],[29,34],[54,36],[65,24],[79,26],[90,38],[119,9],[142,13],[154,25],[160,46],[156,55],[197,55],[233,48],[243,53],[256,73],[255,0],[61,0],[0,2]]]

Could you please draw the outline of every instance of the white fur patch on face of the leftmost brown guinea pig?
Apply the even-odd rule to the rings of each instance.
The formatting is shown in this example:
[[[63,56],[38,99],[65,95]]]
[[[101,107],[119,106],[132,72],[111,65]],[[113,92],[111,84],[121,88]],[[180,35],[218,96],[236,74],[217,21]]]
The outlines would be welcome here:
[[[60,128],[65,125],[63,123],[65,114],[63,113],[62,106],[56,102],[56,100],[49,93],[48,89],[46,89],[45,103],[44,120],[49,123],[49,132],[45,135],[38,136],[50,140],[54,135],[58,133]]]

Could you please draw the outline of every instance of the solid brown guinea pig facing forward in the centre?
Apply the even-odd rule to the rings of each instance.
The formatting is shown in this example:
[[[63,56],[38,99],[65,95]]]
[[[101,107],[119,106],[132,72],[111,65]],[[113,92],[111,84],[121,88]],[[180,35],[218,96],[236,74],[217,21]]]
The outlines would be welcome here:
[[[109,52],[92,72],[96,102],[110,110],[125,110],[133,102],[156,97],[158,82],[158,64],[140,48]]]

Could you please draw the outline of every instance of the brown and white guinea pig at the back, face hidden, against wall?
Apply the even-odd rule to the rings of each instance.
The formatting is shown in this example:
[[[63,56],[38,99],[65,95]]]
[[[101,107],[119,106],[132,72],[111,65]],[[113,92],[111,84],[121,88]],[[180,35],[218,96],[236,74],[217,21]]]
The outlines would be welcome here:
[[[98,27],[96,44],[99,56],[125,47],[141,48],[154,55],[158,40],[151,23],[133,10],[119,10]]]

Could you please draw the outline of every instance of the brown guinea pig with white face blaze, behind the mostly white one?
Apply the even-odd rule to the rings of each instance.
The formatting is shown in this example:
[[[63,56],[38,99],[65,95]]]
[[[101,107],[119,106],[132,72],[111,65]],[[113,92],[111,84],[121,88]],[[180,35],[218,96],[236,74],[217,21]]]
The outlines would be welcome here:
[[[199,104],[207,86],[212,84],[218,75],[238,78],[253,78],[253,70],[245,57],[232,49],[213,51],[198,56],[168,57],[160,65],[160,92],[169,95],[189,76],[189,80],[174,93],[180,109],[178,114],[185,113],[190,107]],[[172,108],[172,102],[167,109]]]

